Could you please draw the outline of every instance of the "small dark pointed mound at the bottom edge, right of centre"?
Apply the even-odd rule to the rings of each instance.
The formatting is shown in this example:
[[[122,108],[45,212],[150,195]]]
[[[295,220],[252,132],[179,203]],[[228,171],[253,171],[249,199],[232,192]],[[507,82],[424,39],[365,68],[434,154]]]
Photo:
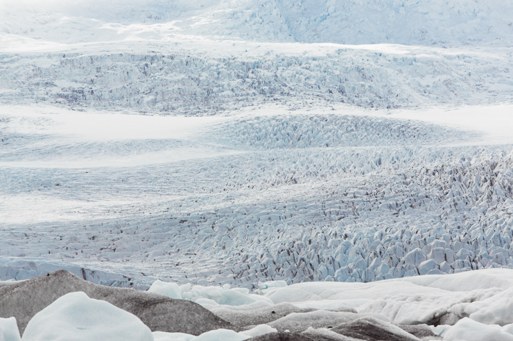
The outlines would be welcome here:
[[[350,338],[367,341],[420,341],[398,326],[371,316],[339,324],[332,330]]]

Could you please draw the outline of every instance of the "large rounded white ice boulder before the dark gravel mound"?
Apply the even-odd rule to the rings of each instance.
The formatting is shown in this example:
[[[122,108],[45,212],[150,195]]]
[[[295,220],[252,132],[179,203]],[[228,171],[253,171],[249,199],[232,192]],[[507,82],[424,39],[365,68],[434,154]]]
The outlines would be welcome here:
[[[37,313],[28,322],[23,341],[153,341],[153,335],[135,315],[112,304],[69,293]]]

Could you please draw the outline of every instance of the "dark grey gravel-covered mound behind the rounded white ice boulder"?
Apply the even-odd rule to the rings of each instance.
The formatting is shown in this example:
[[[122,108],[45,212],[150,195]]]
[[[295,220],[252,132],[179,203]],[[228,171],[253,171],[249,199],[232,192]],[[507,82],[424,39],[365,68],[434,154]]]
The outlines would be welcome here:
[[[55,299],[76,291],[136,315],[151,331],[200,335],[214,329],[234,329],[232,324],[194,302],[130,288],[101,286],[64,270],[0,287],[0,317],[16,317],[23,333],[36,313]]]

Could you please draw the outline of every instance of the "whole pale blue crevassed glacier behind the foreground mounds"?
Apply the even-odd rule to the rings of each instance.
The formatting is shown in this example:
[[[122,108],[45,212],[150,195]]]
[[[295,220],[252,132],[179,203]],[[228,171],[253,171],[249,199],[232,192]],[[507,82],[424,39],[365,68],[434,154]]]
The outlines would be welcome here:
[[[1,1],[0,279],[510,267],[511,4],[374,2]]]

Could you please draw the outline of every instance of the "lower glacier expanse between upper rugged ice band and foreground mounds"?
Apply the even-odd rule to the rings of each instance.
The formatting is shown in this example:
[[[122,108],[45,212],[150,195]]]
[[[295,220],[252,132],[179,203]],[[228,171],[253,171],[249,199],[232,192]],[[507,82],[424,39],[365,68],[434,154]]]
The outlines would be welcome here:
[[[512,106],[333,109],[3,106],[1,279],[257,288],[512,266]]]

